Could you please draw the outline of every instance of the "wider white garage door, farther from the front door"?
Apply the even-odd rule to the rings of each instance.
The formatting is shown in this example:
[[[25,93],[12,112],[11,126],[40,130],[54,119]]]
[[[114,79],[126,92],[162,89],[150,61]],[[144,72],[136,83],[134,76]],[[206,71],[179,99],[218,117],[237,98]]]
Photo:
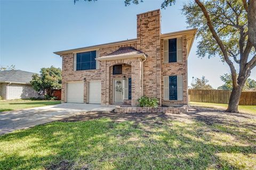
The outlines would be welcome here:
[[[67,83],[67,102],[84,103],[84,82]]]

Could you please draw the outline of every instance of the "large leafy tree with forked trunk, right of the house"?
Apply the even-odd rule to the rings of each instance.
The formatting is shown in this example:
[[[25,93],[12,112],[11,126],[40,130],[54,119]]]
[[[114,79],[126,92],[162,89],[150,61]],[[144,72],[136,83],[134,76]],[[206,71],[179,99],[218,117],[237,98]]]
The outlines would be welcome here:
[[[125,5],[139,2],[142,1],[124,0]],[[174,3],[175,0],[164,0],[161,7]],[[198,28],[197,54],[201,57],[218,55],[228,64],[233,89],[227,112],[237,113],[242,89],[256,65],[256,1],[191,0],[183,6],[182,11],[189,26]],[[239,66],[238,70],[235,63]]]

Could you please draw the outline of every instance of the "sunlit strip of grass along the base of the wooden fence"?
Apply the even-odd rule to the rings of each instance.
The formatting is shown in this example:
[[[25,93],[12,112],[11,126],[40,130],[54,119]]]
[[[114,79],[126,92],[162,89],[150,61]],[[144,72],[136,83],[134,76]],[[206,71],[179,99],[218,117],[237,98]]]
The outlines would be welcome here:
[[[191,106],[201,106],[207,108],[217,108],[217,109],[227,109],[228,104],[219,104],[219,103],[202,103],[190,101]],[[256,114],[256,106],[238,106],[238,111],[242,113]]]

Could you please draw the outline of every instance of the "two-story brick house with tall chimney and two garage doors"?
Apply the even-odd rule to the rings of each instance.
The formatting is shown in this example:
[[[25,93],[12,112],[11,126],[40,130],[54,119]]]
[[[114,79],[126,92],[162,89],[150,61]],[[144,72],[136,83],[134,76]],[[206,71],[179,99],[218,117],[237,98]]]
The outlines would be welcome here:
[[[187,60],[195,34],[162,34],[155,10],[137,15],[135,39],[55,52],[62,57],[62,102],[135,106],[148,96],[159,105],[188,104]]]

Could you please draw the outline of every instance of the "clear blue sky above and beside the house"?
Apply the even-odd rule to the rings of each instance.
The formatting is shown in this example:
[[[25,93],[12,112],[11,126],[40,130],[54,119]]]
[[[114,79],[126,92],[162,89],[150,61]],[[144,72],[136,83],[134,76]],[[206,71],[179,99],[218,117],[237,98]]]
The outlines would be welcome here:
[[[187,29],[182,4],[161,10],[162,33]],[[136,38],[136,15],[161,7],[162,1],[124,6],[124,0],[84,2],[0,0],[0,65],[38,73],[41,67],[61,67],[53,52]],[[197,41],[188,59],[188,81],[205,75],[210,84],[221,86],[220,75],[229,73],[219,57],[198,58]],[[256,69],[251,78],[256,79]]]

